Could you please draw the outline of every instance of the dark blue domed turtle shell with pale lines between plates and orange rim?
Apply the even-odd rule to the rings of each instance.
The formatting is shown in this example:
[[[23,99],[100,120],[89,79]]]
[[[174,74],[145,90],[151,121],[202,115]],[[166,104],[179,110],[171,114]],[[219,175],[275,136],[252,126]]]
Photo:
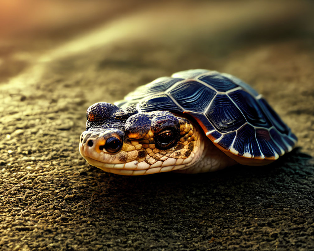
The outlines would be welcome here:
[[[230,157],[275,160],[297,141],[261,94],[226,73],[176,72],[138,87],[115,104],[121,108],[136,104],[143,112],[188,114]]]

